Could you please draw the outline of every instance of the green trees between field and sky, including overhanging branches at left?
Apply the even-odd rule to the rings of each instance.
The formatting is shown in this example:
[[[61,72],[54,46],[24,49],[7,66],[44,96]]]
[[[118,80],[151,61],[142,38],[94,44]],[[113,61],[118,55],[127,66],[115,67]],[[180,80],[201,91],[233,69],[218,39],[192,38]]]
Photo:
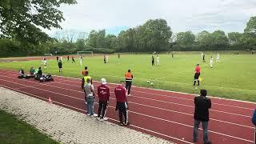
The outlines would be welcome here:
[[[122,30],[118,35],[106,30],[91,30],[88,37],[81,34],[75,41],[68,37],[50,38],[38,27],[61,28],[61,4],[75,0],[2,0],[0,2],[0,55],[74,54],[78,50],[94,53],[152,52],[186,50],[253,50],[256,48],[256,17],[251,17],[243,33],[206,30],[174,34],[165,19],[150,19],[142,26]],[[31,11],[34,10],[34,11]]]

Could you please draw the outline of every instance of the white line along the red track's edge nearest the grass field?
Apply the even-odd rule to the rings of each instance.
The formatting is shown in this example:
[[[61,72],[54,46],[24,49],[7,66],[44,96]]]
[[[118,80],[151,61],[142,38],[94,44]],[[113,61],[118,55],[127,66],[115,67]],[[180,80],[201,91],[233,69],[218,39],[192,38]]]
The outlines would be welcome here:
[[[15,71],[15,70],[10,70],[10,69],[1,69],[1,70],[2,71],[6,70],[7,72],[10,72],[10,71],[14,72]],[[1,70],[0,70],[0,72],[1,72]],[[71,77],[65,77],[65,76],[60,76],[60,75],[53,75],[53,76],[60,77],[60,78],[70,78],[70,79],[74,79],[74,80],[81,80],[80,78],[71,78]],[[108,83],[110,83],[112,85],[117,85],[116,83],[111,83],[111,82],[108,82]],[[168,92],[168,93],[176,93],[176,94],[186,94],[186,95],[198,96],[198,94],[189,94],[189,93],[172,91],[172,90],[160,90],[160,89],[153,89],[153,88],[141,87],[141,86],[132,86],[132,87],[135,87],[135,88],[138,88],[138,89],[144,89],[144,90],[157,90],[157,91],[164,91],[164,92]],[[231,102],[245,102],[245,103],[250,103],[250,104],[256,105],[256,102],[247,102],[247,101],[236,100],[236,99],[228,99],[228,98],[218,98],[218,97],[214,97],[214,96],[208,96],[208,97],[209,98],[213,98],[213,99],[223,99],[223,100],[231,101]]]

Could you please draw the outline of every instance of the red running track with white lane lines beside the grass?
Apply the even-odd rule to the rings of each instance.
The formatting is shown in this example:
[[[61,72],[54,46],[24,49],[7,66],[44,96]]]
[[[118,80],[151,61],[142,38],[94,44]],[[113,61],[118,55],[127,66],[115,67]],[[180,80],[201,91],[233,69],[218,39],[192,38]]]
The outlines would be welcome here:
[[[0,86],[47,100],[54,104],[85,113],[84,94],[81,82],[76,78],[54,76],[54,82],[40,83],[34,79],[18,79],[14,70],[0,70]],[[99,82],[94,82],[95,86]],[[110,122],[117,123],[114,86],[111,90],[110,106],[107,116]],[[250,122],[256,104],[238,102],[229,99],[211,98],[209,138],[213,143],[254,143],[254,126]],[[193,143],[194,95],[151,90],[133,86],[132,96],[128,98],[130,106],[128,126],[146,134],[165,138],[176,143]],[[97,103],[95,104],[97,112]],[[202,130],[198,131],[198,142],[202,143]]]

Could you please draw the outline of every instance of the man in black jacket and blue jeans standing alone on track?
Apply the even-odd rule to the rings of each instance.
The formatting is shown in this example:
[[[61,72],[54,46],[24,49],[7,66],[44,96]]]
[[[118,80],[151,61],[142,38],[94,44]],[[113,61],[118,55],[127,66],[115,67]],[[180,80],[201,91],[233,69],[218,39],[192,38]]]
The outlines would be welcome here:
[[[198,141],[198,127],[202,122],[202,133],[204,144],[211,144],[208,140],[209,109],[211,102],[206,98],[207,90],[200,90],[200,96],[194,98],[194,132],[193,141]]]

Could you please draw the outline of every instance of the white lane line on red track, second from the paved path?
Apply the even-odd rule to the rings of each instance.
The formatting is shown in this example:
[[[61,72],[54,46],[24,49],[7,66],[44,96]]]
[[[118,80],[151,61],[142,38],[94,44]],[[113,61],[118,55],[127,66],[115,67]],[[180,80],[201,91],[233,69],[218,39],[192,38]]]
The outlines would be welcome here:
[[[2,80],[2,81],[6,81],[6,80]],[[6,81],[6,82],[9,82],[9,81]],[[17,83],[17,82],[11,82],[11,83]],[[19,84],[19,83],[17,83]],[[19,85],[23,85],[23,84],[19,84]],[[35,88],[35,87],[34,87]],[[38,89],[38,88],[35,88],[35,89]],[[15,90],[15,89],[14,89]],[[42,90],[42,89],[38,89],[38,90]],[[44,90],[44,91],[49,91],[49,90]],[[51,92],[51,91],[49,91]],[[72,96],[69,96],[69,95],[66,95],[66,94],[59,94],[59,93],[55,93],[55,92],[51,92],[51,93],[54,93],[54,94],[58,94],[58,95],[62,95],[64,97],[70,97],[70,98],[74,98]],[[76,99],[80,99],[83,101],[82,98],[76,98]],[[96,102],[97,103],[97,102]],[[109,106],[113,109],[115,109],[114,106]],[[174,123],[174,124],[178,124],[178,125],[181,125],[181,126],[188,126],[190,128],[193,128],[194,126],[190,126],[190,125],[186,125],[186,124],[183,124],[183,123],[179,123],[179,122],[174,122],[174,121],[170,121],[170,120],[166,120],[166,119],[163,119],[163,118],[157,118],[157,117],[154,117],[154,116],[150,116],[150,115],[147,115],[147,114],[141,114],[141,113],[138,113],[138,112],[134,112],[134,111],[130,111],[131,113],[134,113],[134,114],[139,114],[139,115],[142,115],[142,116],[146,116],[146,117],[149,117],[149,118],[154,118],[154,119],[158,119],[158,120],[162,120],[164,122],[171,122],[171,123]],[[200,130],[202,130],[202,128],[199,128]],[[220,134],[220,135],[223,135],[223,136],[226,136],[226,137],[230,137],[230,138],[236,138],[236,139],[239,139],[239,140],[242,140],[242,141],[246,141],[246,142],[253,142],[253,141],[250,141],[250,140],[247,140],[247,139],[244,139],[244,138],[238,138],[238,137],[235,137],[235,136],[231,136],[231,135],[228,135],[228,134],[222,134],[222,133],[218,133],[218,132],[215,132],[213,130],[209,130],[209,132],[212,132],[214,134]]]

